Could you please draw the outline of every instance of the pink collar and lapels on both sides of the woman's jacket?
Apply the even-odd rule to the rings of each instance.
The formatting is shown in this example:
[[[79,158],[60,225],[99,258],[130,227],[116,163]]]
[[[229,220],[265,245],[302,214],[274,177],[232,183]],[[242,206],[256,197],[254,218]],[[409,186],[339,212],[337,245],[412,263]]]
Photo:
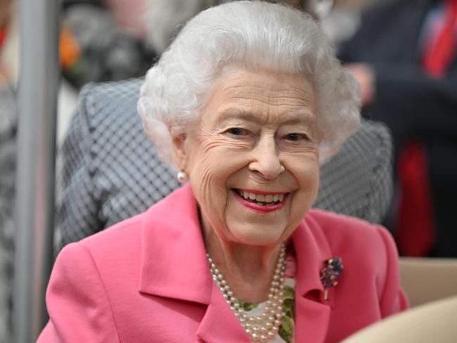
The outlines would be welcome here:
[[[212,281],[191,187],[175,190],[144,216],[139,292],[208,305],[197,330],[205,342],[249,342]],[[313,226],[305,220],[292,235],[300,261],[295,291],[295,321],[300,323],[295,326],[296,342],[323,342],[330,316],[319,276],[323,260],[331,254],[326,238]]]

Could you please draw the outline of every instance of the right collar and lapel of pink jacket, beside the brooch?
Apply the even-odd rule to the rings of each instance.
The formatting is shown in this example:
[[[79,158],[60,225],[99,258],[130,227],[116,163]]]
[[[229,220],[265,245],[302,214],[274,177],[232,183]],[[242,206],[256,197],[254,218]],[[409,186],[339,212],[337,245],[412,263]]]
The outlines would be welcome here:
[[[329,301],[323,299],[320,273],[323,261],[332,254],[325,236],[311,230],[312,225],[302,221],[292,235],[297,254],[295,342],[325,342],[335,300],[333,289],[328,291]]]

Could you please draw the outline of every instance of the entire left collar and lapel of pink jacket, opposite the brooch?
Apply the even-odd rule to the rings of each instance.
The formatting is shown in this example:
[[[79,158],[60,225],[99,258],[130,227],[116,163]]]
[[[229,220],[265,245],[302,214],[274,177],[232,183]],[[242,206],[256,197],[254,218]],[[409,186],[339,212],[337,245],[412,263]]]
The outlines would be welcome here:
[[[212,280],[190,186],[145,214],[139,292],[207,305],[196,331],[205,342],[249,342]]]

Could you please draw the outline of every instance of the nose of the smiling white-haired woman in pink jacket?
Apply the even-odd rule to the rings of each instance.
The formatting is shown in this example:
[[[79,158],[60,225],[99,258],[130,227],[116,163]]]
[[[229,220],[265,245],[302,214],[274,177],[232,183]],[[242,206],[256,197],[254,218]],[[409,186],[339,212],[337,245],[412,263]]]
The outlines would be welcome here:
[[[252,162],[249,164],[250,171],[257,172],[264,179],[276,179],[285,170],[274,139],[260,140],[252,150],[252,157]]]

